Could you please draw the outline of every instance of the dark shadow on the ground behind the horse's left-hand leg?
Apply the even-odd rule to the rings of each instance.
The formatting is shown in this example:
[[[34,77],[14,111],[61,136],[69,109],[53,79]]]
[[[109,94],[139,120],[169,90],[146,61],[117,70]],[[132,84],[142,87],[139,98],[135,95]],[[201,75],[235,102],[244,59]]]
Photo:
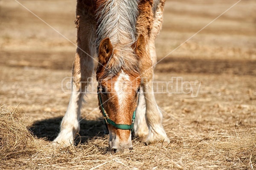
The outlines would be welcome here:
[[[43,138],[46,141],[53,141],[59,131],[60,124],[63,117],[49,118],[42,121],[35,121],[29,130],[37,138]],[[108,130],[103,124],[102,119],[100,120],[84,120],[80,121],[80,132],[76,135],[76,144],[85,143],[93,138],[106,137]]]

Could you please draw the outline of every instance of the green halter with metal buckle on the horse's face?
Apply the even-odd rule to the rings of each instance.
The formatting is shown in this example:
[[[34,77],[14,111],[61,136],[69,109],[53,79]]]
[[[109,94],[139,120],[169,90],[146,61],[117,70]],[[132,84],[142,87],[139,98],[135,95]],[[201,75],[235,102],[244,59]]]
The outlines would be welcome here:
[[[136,113],[135,110],[133,112],[130,125],[128,125],[128,124],[116,124],[114,121],[112,121],[108,117],[108,114],[105,112],[105,109],[104,109],[103,104],[102,104],[102,99],[101,99],[101,96],[99,94],[99,86],[98,86],[98,96],[99,96],[100,106],[102,108],[102,115],[104,116],[104,124],[106,125],[107,129],[108,129],[108,124],[111,124],[112,126],[117,127],[118,129],[131,130],[131,132],[132,132],[133,125],[134,125],[134,120],[135,120],[135,113]]]

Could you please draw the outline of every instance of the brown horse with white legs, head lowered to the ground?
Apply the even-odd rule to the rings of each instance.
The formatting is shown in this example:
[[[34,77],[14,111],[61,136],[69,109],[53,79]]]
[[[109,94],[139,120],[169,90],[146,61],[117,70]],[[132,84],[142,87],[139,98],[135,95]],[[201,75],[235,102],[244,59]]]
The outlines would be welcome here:
[[[163,22],[165,0],[77,0],[76,56],[72,94],[54,146],[73,144],[79,132],[83,95],[98,58],[99,108],[108,127],[109,149],[131,149],[134,136],[169,143],[154,98],[154,41]],[[138,93],[138,96],[137,96]],[[136,117],[135,117],[136,112]],[[135,118],[135,120],[134,120]]]

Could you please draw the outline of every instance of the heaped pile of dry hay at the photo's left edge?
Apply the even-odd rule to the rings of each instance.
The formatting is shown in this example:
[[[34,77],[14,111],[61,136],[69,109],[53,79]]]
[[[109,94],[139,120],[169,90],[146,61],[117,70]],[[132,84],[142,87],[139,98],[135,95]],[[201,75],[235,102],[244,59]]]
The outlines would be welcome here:
[[[0,107],[0,160],[35,152],[35,139],[20,121],[22,115],[20,109]]]

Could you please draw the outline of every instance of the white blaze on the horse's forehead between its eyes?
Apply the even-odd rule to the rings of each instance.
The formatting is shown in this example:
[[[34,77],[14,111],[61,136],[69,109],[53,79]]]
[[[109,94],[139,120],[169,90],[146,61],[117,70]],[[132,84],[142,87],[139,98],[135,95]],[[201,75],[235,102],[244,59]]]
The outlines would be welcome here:
[[[119,74],[115,83],[115,91],[118,98],[119,106],[122,108],[125,102],[125,98],[127,98],[127,95],[128,95],[127,91],[129,88],[128,85],[129,85],[130,79],[129,79],[129,75],[123,72],[123,70],[121,71],[122,72]]]

